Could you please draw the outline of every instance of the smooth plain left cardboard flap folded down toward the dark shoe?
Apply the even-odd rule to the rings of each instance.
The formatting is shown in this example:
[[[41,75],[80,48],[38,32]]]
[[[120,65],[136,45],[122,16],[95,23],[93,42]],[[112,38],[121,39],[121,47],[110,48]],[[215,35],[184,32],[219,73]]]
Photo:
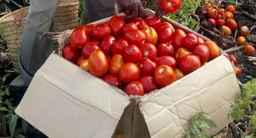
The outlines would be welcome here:
[[[15,113],[50,138],[110,138],[129,98],[52,54],[33,77]]]

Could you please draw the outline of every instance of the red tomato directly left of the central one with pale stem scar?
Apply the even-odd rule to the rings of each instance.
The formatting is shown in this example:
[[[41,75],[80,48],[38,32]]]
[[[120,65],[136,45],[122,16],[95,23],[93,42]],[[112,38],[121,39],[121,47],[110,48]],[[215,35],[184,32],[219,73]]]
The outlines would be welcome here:
[[[132,62],[137,64],[142,58],[141,50],[138,46],[130,44],[125,47],[124,58],[126,62]]]

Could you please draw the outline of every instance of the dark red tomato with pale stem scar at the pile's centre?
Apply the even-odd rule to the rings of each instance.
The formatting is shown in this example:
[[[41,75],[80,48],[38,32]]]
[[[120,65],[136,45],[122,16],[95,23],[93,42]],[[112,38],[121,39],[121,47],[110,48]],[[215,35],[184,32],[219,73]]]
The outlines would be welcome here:
[[[157,49],[155,45],[152,43],[144,43],[140,47],[142,58],[149,58],[150,60],[154,60],[157,56]]]

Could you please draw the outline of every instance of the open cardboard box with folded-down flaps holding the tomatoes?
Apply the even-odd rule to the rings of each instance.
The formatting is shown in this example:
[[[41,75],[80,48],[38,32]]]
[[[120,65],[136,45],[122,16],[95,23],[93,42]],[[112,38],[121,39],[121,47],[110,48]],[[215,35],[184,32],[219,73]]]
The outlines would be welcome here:
[[[145,13],[154,15],[149,9]],[[119,15],[125,18],[125,14]],[[209,40],[166,17],[162,20]],[[46,34],[59,41],[62,51],[71,32]],[[240,89],[225,53],[143,97],[128,96],[59,54],[51,54],[36,72],[15,110],[50,138],[111,138],[119,129],[124,131],[125,138],[183,138],[189,120],[197,111],[209,113],[218,127],[204,130],[206,134],[215,134],[232,121],[227,114]]]

